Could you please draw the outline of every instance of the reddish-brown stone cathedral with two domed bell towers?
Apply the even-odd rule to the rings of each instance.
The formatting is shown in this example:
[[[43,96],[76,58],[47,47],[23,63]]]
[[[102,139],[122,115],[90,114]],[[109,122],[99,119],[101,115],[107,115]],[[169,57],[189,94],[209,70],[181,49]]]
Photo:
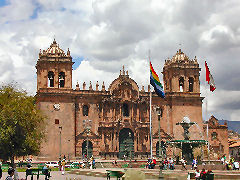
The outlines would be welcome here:
[[[55,40],[47,50],[40,50],[36,98],[47,120],[46,140],[38,157],[48,160],[92,155],[148,157],[150,86],[146,91],[143,86],[139,88],[123,66],[108,88],[104,82],[90,82],[89,87],[83,82],[73,88],[73,64],[69,49],[65,53]],[[152,93],[153,156],[159,154],[159,127],[162,153],[168,156],[176,153],[167,142],[184,139],[183,128],[176,125],[184,117],[196,123],[189,129],[190,139],[207,139],[202,120],[200,71],[196,57],[191,60],[181,49],[165,61],[162,73],[166,97]],[[221,148],[222,154],[228,154],[228,147]]]

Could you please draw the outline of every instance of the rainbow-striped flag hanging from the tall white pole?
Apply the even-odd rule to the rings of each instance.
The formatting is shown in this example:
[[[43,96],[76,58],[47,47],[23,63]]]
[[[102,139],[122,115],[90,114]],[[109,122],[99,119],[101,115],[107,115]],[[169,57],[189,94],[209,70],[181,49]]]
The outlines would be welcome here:
[[[159,97],[165,98],[163,86],[159,81],[157,73],[154,71],[152,67],[151,61],[150,61],[150,84],[154,87],[154,90]]]

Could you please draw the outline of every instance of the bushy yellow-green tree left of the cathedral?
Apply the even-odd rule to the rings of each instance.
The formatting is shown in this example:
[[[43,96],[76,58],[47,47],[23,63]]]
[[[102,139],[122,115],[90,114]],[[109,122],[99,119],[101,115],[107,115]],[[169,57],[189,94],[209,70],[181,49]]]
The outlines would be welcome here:
[[[43,114],[35,97],[13,84],[0,87],[0,158],[37,155],[44,138]]]

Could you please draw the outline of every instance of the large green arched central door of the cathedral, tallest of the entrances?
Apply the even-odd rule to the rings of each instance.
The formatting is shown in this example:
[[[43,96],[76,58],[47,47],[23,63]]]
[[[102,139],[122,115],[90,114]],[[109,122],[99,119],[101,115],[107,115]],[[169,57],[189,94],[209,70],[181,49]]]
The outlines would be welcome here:
[[[134,133],[129,128],[119,132],[119,158],[123,159],[124,155],[134,157]]]

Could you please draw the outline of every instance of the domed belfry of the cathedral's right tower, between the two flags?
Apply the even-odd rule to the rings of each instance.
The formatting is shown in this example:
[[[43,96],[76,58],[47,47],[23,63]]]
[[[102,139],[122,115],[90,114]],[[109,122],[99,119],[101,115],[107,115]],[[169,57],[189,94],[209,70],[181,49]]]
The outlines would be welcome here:
[[[196,57],[190,60],[179,49],[172,59],[165,60],[163,80],[166,94],[200,96],[200,71]]]

